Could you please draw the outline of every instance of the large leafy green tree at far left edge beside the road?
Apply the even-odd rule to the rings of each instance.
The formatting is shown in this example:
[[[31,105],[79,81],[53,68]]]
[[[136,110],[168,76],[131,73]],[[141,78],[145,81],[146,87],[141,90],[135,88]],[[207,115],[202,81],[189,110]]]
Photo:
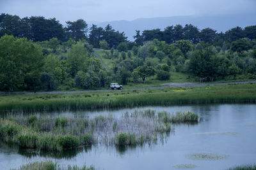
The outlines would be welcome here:
[[[26,38],[0,39],[0,89],[35,89],[44,57],[42,48]]]

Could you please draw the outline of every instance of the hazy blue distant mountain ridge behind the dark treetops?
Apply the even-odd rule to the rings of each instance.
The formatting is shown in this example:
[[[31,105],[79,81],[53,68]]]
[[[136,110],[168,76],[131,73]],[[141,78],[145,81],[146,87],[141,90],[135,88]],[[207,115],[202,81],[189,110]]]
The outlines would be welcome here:
[[[157,17],[157,18],[138,18],[136,20],[116,20],[111,22],[97,23],[99,27],[106,27],[110,24],[113,29],[120,32],[125,32],[129,40],[133,41],[132,36],[135,35],[135,30],[141,32],[146,29],[161,29],[170,25],[186,25],[192,24],[198,29],[210,27],[217,32],[225,32],[233,27],[246,27],[256,25],[255,13],[243,13],[234,15],[214,15],[214,16],[177,16],[177,17]]]

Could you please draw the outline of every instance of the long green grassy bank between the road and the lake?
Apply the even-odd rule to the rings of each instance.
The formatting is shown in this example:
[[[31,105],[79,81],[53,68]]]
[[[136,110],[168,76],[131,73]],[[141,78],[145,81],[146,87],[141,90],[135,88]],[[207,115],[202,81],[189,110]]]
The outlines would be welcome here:
[[[80,94],[0,96],[0,111],[65,111],[208,103],[256,103],[256,83]]]

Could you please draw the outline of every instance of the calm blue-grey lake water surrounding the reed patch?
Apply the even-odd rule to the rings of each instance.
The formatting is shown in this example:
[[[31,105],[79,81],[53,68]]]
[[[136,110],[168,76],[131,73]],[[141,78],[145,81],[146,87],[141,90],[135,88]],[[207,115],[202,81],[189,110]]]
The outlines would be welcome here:
[[[198,124],[176,124],[168,138],[135,148],[93,145],[63,154],[24,151],[0,141],[1,169],[18,168],[28,162],[52,159],[61,166],[93,165],[99,169],[227,169],[256,163],[256,104],[209,104],[152,106],[121,110],[36,113],[46,117],[94,117],[126,111],[191,111],[202,117]],[[21,113],[20,113],[21,114]],[[26,114],[23,114],[25,117]],[[2,113],[1,117],[5,117]]]

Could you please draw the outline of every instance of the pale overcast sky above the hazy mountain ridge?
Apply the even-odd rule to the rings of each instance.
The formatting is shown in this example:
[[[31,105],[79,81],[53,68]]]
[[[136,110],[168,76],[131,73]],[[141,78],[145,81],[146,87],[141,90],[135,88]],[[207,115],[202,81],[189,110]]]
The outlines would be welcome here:
[[[0,0],[0,13],[44,16],[62,24],[83,18],[93,22],[180,15],[250,13],[256,0]]]

